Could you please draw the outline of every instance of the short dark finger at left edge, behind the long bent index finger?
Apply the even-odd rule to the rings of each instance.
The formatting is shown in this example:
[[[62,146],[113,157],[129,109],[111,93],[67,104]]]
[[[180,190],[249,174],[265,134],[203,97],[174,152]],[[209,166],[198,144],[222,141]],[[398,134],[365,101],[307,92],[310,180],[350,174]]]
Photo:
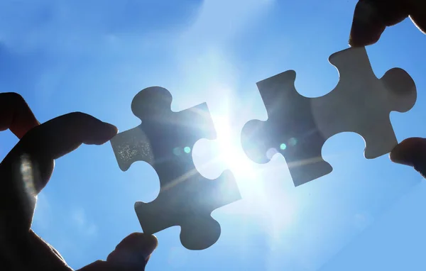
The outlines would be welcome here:
[[[22,138],[38,124],[40,123],[21,95],[0,93],[0,131],[10,129],[18,138]]]

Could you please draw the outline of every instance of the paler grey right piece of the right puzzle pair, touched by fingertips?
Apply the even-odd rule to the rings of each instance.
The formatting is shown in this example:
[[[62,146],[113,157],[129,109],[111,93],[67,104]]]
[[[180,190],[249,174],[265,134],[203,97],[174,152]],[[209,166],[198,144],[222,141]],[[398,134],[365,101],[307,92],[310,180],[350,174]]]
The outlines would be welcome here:
[[[324,138],[355,132],[366,142],[368,159],[389,153],[398,144],[389,114],[413,108],[417,92],[413,79],[402,69],[374,74],[365,48],[336,52],[329,62],[340,80],[332,92],[312,99],[312,114]]]

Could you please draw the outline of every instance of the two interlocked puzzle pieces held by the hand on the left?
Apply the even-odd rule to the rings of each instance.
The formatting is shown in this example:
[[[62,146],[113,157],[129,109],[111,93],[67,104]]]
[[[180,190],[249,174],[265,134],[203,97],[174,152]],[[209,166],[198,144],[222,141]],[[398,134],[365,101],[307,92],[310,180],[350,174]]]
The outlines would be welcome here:
[[[216,133],[207,104],[173,112],[167,89],[150,87],[133,99],[133,114],[141,125],[119,133],[111,145],[121,170],[136,161],[153,166],[160,179],[160,194],[146,204],[136,202],[135,210],[145,233],[153,234],[180,226],[185,248],[202,250],[220,236],[220,226],[210,214],[214,209],[241,199],[229,171],[214,180],[195,169],[190,150],[200,138],[214,139]]]

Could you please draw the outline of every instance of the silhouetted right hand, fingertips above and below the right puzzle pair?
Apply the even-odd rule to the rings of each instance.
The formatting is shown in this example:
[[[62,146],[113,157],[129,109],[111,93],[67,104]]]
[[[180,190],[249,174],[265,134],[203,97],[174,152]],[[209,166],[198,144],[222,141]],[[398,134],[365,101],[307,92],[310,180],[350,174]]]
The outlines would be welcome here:
[[[366,46],[376,43],[385,28],[410,17],[426,33],[425,0],[359,0],[352,21],[349,45]],[[391,160],[414,167],[426,177],[426,138],[408,138],[391,152]]]

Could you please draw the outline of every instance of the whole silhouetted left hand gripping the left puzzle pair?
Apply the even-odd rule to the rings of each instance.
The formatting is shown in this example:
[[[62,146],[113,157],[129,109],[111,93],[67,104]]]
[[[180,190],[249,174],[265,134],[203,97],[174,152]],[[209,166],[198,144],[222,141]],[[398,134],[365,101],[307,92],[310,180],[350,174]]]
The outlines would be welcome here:
[[[60,254],[31,230],[37,194],[48,183],[55,159],[82,143],[102,145],[117,129],[82,113],[40,124],[20,95],[2,93],[0,131],[8,128],[20,140],[0,163],[0,266],[6,270],[71,270]],[[156,246],[154,236],[133,233],[116,246],[107,261],[94,262],[82,270],[144,270]]]

